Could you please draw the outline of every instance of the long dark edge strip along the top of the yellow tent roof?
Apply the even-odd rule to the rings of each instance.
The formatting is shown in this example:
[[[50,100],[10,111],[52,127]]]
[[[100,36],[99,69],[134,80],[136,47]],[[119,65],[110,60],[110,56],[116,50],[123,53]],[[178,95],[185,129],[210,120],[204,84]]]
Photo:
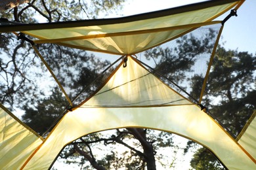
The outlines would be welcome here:
[[[192,10],[200,10],[208,7],[214,7],[218,5],[224,5],[226,3],[234,3],[240,0],[213,0],[205,1],[201,3],[194,3],[190,5],[184,5],[181,7],[175,7],[171,9],[157,10],[154,12],[147,12],[143,14],[136,14],[133,16],[125,16],[120,18],[106,18],[106,19],[94,19],[94,20],[77,20],[68,22],[51,22],[51,23],[41,23],[41,24],[20,24],[18,22],[7,22],[2,20],[3,25],[0,25],[0,32],[10,32],[10,31],[29,31],[37,29],[54,29],[54,28],[64,28],[64,27],[80,27],[80,26],[90,26],[90,25],[108,25],[108,24],[120,24],[125,22],[134,22],[138,20],[146,20],[150,18],[158,18],[167,15],[179,14],[182,12],[189,12]],[[0,20],[1,22],[1,20]]]

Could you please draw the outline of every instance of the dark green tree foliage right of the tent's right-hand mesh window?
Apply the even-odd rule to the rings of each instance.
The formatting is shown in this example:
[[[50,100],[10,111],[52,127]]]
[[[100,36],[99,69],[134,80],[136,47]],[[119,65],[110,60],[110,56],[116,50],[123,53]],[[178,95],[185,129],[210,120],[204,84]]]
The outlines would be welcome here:
[[[247,52],[219,47],[213,69],[209,74],[207,97],[221,97],[219,103],[207,103],[224,126],[235,136],[256,108],[256,58]]]

